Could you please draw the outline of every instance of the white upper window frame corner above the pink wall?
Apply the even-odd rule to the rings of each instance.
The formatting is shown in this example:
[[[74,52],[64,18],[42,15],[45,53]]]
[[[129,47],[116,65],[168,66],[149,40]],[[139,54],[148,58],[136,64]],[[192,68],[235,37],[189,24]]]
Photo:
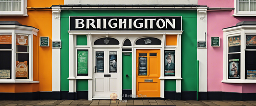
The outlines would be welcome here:
[[[256,16],[256,11],[239,11],[239,0],[234,0],[234,14],[232,15],[233,17],[235,16]]]

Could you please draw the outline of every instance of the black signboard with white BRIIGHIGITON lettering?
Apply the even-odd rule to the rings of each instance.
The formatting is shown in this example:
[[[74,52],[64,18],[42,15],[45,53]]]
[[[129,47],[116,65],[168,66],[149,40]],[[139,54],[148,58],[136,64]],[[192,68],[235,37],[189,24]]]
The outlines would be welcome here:
[[[182,17],[70,16],[70,31],[182,31]]]

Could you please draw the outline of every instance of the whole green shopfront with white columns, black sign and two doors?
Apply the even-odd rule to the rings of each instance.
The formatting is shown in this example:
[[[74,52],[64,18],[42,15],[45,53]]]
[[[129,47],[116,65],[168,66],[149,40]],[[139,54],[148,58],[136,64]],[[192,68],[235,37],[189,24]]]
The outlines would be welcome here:
[[[197,83],[206,68],[199,64],[206,63],[207,49],[197,48],[205,42],[206,6],[110,6],[52,6],[52,42],[61,42],[52,49],[52,92],[59,99],[110,99],[114,93],[119,100],[196,100],[206,91],[203,80]],[[95,9],[74,9],[88,7]]]

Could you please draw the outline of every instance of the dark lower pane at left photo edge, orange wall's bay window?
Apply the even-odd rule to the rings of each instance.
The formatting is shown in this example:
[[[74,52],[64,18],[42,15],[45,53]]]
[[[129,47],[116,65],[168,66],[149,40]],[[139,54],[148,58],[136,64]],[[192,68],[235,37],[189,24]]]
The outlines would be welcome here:
[[[0,79],[11,79],[12,51],[0,51]]]

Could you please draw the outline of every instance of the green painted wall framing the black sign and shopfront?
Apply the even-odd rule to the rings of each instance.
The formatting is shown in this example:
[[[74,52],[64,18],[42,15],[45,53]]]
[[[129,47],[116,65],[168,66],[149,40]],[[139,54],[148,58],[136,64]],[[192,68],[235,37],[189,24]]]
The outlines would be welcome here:
[[[182,16],[182,91],[196,91],[196,10],[61,10],[61,91],[68,90],[69,16]],[[173,90],[176,82],[165,85]]]

